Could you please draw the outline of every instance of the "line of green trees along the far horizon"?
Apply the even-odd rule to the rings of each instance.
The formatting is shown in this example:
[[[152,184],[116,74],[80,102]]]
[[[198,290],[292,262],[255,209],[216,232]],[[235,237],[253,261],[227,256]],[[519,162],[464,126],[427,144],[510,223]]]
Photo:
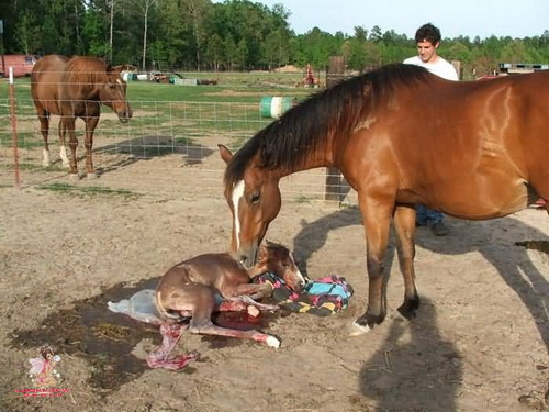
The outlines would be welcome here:
[[[282,4],[247,0],[8,0],[2,53],[104,57],[141,69],[250,70],[284,65],[325,68],[345,56],[362,71],[414,55],[413,38],[379,26],[330,34],[295,34]],[[444,32],[444,27],[442,32]],[[439,54],[459,60],[463,77],[490,74],[500,63],[549,63],[549,31],[537,36],[445,38]]]

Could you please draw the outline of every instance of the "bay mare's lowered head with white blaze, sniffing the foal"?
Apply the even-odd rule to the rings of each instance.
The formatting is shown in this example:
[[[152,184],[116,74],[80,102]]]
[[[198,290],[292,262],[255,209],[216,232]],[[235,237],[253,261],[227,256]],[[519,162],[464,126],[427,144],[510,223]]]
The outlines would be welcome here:
[[[221,158],[228,165],[233,154],[223,145],[219,147]],[[225,187],[225,199],[233,213],[231,252],[246,269],[256,264],[258,247],[269,223],[280,211],[278,183],[278,177],[251,164],[244,170],[242,179]]]

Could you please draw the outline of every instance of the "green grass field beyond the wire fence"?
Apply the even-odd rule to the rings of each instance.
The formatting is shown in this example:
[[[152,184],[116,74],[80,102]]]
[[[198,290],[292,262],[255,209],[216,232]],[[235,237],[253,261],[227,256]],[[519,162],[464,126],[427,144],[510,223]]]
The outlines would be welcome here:
[[[228,133],[234,137],[231,145],[238,147],[245,138],[272,121],[260,115],[262,97],[291,97],[299,101],[318,90],[295,87],[302,80],[300,73],[182,75],[184,78],[214,79],[217,85],[181,86],[128,81],[127,98],[134,110],[134,119],[128,124],[121,124],[112,115],[103,115],[97,133],[107,136],[169,136],[170,147],[173,144],[191,145],[206,135]],[[15,79],[12,90],[15,96],[20,147],[42,146],[41,140],[36,138],[37,119],[30,96],[30,80]],[[7,79],[0,79],[0,119],[5,125],[0,127],[2,146],[12,145],[9,91]],[[109,112],[109,109],[103,109],[103,113]],[[56,138],[57,125],[52,124],[52,129],[51,136]],[[159,147],[158,151],[163,151],[161,144],[155,145]]]

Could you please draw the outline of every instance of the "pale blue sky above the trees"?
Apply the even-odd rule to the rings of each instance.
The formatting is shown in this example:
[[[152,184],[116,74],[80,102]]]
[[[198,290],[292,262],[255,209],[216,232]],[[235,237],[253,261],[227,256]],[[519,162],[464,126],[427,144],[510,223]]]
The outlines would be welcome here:
[[[413,38],[418,26],[433,23],[442,37],[467,35],[526,37],[549,30],[549,0],[250,0],[272,8],[281,3],[292,13],[298,33],[314,26],[329,33],[352,34],[355,26],[394,30]],[[220,0],[215,2],[221,2]]]

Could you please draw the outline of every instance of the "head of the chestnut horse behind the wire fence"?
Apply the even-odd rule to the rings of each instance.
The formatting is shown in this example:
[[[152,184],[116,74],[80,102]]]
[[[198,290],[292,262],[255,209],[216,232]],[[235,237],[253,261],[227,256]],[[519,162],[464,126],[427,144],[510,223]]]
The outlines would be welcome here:
[[[132,119],[133,112],[126,99],[126,82],[122,79],[122,70],[126,69],[126,65],[105,67],[105,81],[99,88],[99,100],[108,105],[119,115],[122,123],[127,123]]]

